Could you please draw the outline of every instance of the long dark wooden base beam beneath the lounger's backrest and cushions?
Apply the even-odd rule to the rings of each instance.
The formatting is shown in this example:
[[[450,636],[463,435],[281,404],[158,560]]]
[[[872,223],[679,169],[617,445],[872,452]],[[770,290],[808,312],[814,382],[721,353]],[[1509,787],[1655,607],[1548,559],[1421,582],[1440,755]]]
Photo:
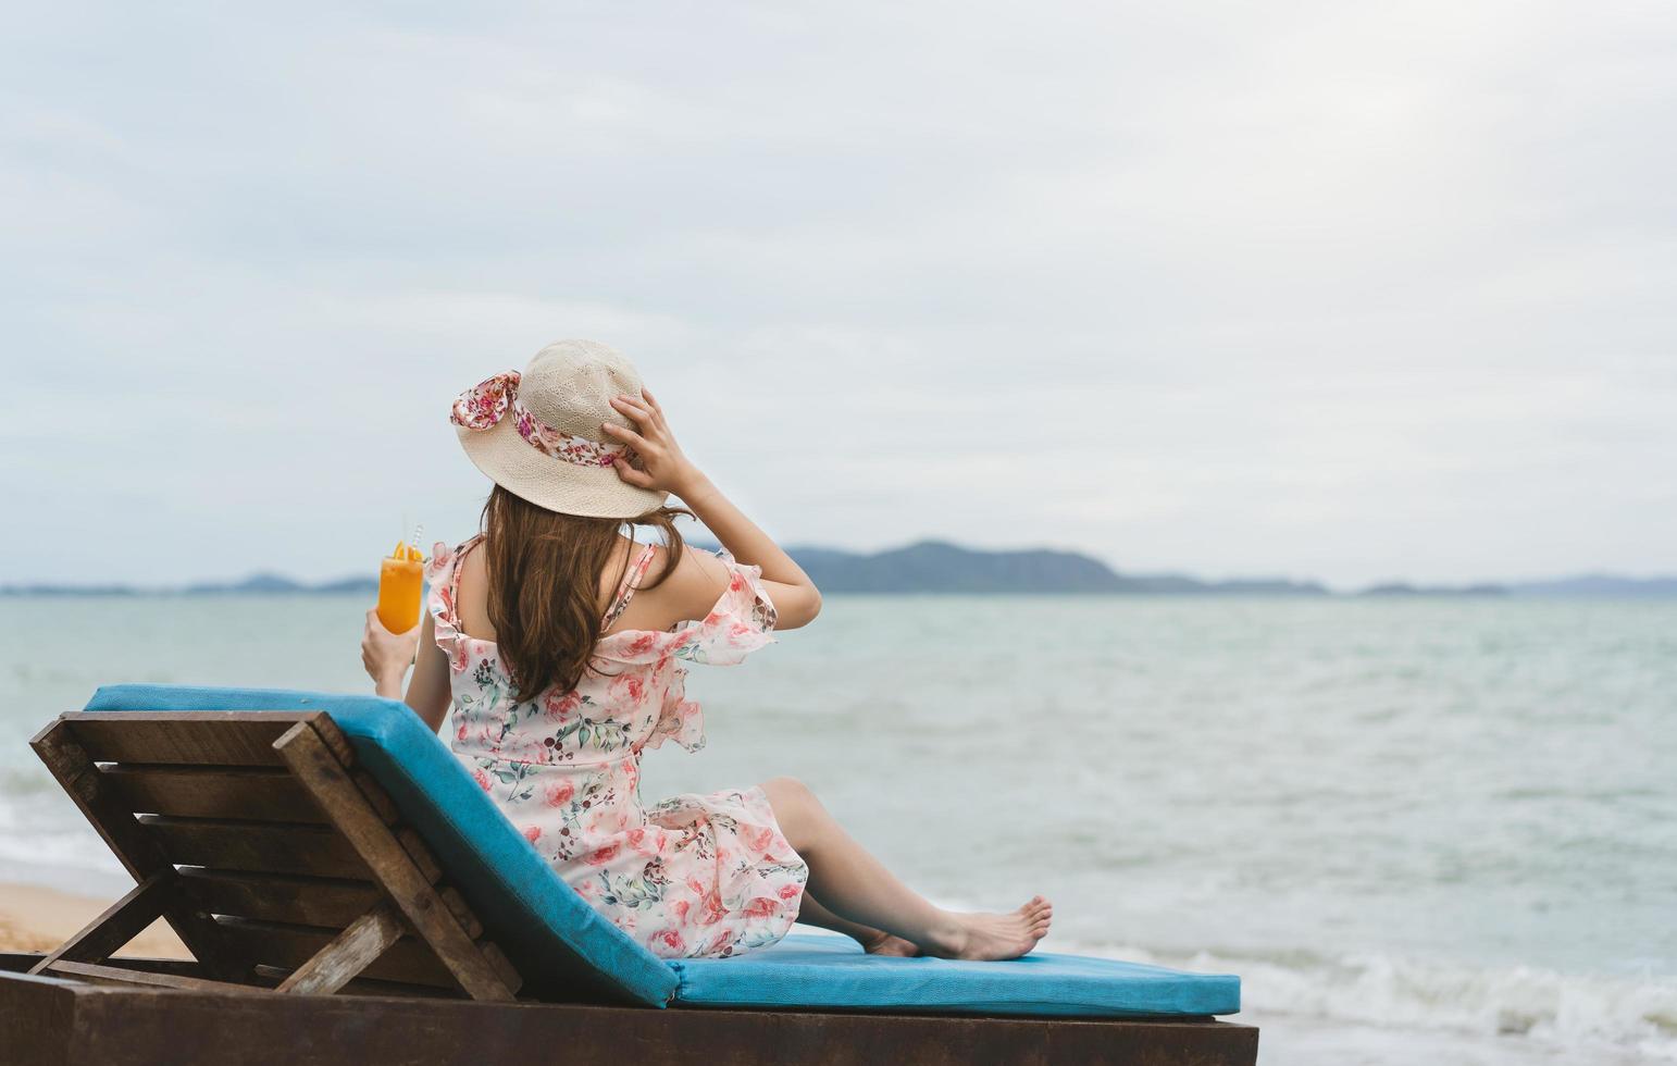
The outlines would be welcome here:
[[[80,1066],[1254,1066],[1258,1029],[1110,1021],[694,1011],[101,986],[0,955],[0,1064]],[[139,964],[143,969],[148,964]],[[176,981],[193,964],[149,964]]]

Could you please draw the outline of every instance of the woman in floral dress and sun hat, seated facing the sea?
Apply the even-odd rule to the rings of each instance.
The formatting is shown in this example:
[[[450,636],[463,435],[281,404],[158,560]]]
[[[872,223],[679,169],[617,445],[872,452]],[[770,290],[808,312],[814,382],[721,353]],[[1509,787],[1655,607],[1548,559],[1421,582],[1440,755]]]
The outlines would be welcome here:
[[[413,632],[367,612],[362,660],[379,696],[404,699],[419,642],[408,706],[433,729],[453,706],[456,756],[572,888],[661,957],[765,947],[793,920],[875,954],[1013,959],[1036,945],[1046,900],[932,907],[792,778],[642,806],[641,753],[704,741],[683,664],[736,664],[770,630],[808,625],[822,597],[683,456],[627,359],[548,345],[522,375],[468,389],[451,421],[495,483],[483,531],[436,546]],[[684,513],[724,551],[684,550]],[[626,523],[664,543],[637,545]]]

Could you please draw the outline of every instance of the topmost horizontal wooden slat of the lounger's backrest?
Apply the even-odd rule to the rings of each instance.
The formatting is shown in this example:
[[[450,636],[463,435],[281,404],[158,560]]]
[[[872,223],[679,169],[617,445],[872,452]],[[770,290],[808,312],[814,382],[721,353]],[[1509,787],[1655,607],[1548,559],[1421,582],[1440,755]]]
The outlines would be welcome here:
[[[282,766],[273,741],[317,711],[136,711],[65,714],[77,743],[97,763],[173,763],[190,766]]]

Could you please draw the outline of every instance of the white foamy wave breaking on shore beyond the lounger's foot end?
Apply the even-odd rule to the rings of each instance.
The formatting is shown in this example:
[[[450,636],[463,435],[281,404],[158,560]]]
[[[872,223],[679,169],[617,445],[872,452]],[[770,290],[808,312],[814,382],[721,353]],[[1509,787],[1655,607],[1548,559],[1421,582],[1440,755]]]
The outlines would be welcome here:
[[[1177,955],[1088,944],[1057,950],[1239,974],[1249,1014],[1498,1036],[1576,1054],[1598,1049],[1677,1063],[1677,977],[1477,967],[1384,952]]]

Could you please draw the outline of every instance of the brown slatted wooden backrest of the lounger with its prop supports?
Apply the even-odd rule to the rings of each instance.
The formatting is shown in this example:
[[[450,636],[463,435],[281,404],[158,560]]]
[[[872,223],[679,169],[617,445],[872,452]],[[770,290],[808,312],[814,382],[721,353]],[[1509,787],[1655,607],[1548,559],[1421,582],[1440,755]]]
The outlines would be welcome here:
[[[30,974],[515,999],[517,969],[325,712],[84,711],[30,748],[138,882]],[[206,977],[111,957],[159,917]]]

